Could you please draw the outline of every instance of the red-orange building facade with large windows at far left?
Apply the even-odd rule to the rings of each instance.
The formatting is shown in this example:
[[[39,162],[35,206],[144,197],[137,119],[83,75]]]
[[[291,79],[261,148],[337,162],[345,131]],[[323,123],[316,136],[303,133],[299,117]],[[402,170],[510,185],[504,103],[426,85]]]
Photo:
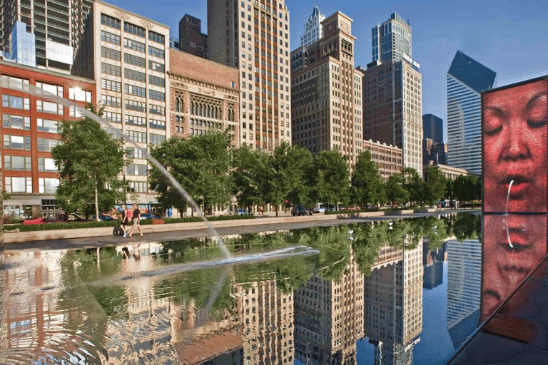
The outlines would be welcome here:
[[[59,122],[76,119],[79,113],[9,87],[36,86],[86,106],[96,103],[96,85],[86,78],[6,61],[0,61],[0,74],[1,164],[4,190],[11,194],[11,200],[4,201],[4,215],[21,219],[54,214],[59,173],[51,148],[60,138]]]

